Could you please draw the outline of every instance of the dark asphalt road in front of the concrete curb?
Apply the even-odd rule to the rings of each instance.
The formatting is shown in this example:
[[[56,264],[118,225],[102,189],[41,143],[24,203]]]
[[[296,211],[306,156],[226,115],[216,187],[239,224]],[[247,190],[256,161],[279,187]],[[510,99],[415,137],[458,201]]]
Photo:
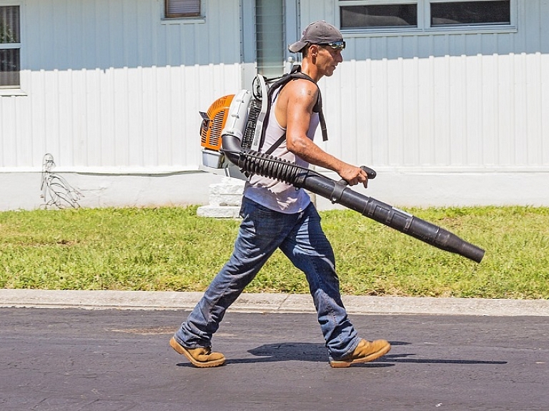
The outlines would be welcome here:
[[[313,314],[228,312],[227,364],[168,345],[182,310],[0,309],[1,411],[548,410],[547,317],[351,315],[392,343],[332,369]]]

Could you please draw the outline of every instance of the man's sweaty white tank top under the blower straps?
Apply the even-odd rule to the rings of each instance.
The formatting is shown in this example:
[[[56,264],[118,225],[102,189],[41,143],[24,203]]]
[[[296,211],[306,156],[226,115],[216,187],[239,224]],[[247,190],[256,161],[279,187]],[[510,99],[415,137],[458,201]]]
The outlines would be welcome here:
[[[267,124],[267,131],[265,132],[265,141],[261,150],[262,152],[266,152],[272,144],[277,142],[278,139],[286,133],[286,129],[280,126],[277,122],[277,117],[274,115],[274,107],[276,107],[277,99],[278,94],[276,94],[274,101],[272,102],[269,123]],[[313,112],[309,130],[307,131],[307,137],[311,140],[315,139],[315,131],[318,127],[318,123],[318,113]],[[272,155],[295,163],[300,167],[309,167],[308,162],[305,162],[305,160],[297,157],[287,149],[286,140],[284,140],[279,147],[274,149]],[[257,202],[268,209],[284,214],[302,212],[311,202],[309,194],[307,194],[304,189],[296,189],[290,184],[255,174],[250,177],[249,182],[246,182],[244,197]]]

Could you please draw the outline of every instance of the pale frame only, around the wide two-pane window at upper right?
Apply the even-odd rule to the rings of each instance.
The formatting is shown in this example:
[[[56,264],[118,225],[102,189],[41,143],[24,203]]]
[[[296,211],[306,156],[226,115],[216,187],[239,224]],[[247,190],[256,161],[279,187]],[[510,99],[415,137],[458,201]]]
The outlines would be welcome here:
[[[417,27],[387,26],[364,27],[360,29],[342,28],[345,36],[403,36],[403,35],[430,35],[430,34],[470,34],[470,33],[515,33],[517,29],[518,0],[510,1],[510,24],[456,24],[431,26],[432,3],[465,2],[471,0],[337,0],[335,5],[336,21],[341,23],[340,7],[342,6],[377,6],[392,4],[417,4]],[[490,0],[476,0],[490,1]]]

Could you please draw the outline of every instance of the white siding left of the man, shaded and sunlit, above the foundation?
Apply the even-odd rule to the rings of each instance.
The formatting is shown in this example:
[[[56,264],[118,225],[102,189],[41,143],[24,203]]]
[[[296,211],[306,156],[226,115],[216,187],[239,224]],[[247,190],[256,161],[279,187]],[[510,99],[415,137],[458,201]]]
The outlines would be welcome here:
[[[0,96],[0,171],[197,169],[199,110],[240,88],[238,0],[162,22],[161,0],[28,0],[21,89]]]

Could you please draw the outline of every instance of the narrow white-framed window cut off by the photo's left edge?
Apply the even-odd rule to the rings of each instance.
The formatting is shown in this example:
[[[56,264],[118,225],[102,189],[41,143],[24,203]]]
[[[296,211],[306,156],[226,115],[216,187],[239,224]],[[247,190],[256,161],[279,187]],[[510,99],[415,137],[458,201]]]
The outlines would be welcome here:
[[[0,6],[0,89],[19,87],[19,6]]]

